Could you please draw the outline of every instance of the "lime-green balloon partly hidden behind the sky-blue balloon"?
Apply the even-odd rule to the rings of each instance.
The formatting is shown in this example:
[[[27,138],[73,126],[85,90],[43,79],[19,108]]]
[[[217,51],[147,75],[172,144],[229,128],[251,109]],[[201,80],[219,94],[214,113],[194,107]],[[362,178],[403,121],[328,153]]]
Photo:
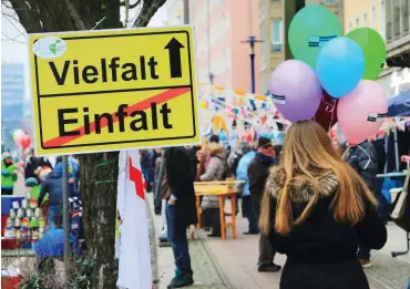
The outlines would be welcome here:
[[[387,58],[386,43],[381,35],[371,28],[359,28],[347,35],[360,45],[365,53],[365,80],[377,80]]]

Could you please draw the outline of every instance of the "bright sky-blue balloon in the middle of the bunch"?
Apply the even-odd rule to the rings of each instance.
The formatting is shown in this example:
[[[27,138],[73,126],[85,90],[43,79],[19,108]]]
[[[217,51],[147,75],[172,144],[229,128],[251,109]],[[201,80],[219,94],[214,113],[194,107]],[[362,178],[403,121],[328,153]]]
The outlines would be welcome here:
[[[316,74],[325,91],[335,99],[352,92],[363,73],[363,51],[349,38],[329,41],[318,55]]]

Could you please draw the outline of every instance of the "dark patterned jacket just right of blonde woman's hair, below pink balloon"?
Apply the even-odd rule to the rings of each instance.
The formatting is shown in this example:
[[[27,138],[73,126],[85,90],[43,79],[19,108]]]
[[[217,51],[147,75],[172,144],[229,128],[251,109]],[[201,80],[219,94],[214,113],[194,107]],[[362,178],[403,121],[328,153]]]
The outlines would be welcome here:
[[[347,162],[361,176],[369,189],[375,193],[378,159],[373,144],[366,141],[350,148]]]

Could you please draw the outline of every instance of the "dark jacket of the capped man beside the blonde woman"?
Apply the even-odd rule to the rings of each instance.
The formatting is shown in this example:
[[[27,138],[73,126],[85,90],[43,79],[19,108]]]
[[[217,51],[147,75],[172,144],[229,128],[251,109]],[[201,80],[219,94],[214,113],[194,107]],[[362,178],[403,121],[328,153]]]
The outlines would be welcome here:
[[[265,190],[266,179],[269,176],[270,166],[270,162],[256,154],[248,167],[250,198],[257,218],[259,218],[262,196]]]

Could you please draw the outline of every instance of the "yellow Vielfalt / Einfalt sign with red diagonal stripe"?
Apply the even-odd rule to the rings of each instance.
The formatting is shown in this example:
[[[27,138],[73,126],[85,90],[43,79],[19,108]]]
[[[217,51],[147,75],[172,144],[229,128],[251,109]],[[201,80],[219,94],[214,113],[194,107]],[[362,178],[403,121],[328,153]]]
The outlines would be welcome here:
[[[191,27],[29,35],[35,149],[201,142]]]

